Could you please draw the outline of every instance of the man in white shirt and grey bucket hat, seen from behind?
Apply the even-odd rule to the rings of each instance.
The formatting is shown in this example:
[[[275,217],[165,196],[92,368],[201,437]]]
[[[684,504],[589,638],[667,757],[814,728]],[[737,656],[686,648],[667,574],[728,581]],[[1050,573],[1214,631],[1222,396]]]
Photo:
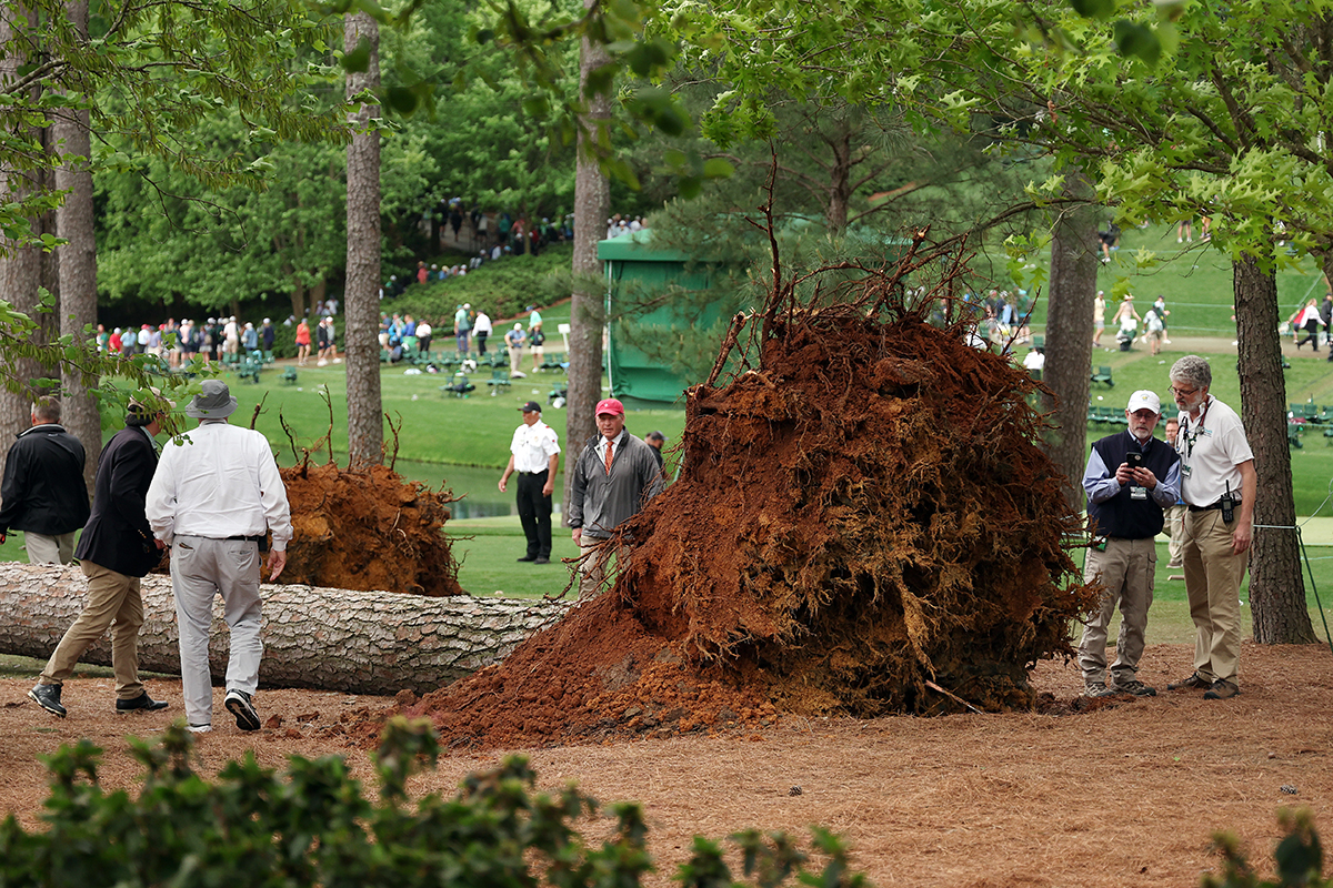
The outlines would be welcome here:
[[[268,441],[259,431],[228,425],[235,410],[227,383],[205,379],[185,410],[200,421],[199,427],[188,439],[176,438],[163,447],[145,510],[153,535],[171,546],[181,692],[185,722],[196,734],[212,730],[208,631],[219,592],[231,628],[224,706],[240,730],[260,727],[252,702],[264,654],[260,547],[272,531],[268,564],[273,580],[287,566],[292,538],[287,487]]]

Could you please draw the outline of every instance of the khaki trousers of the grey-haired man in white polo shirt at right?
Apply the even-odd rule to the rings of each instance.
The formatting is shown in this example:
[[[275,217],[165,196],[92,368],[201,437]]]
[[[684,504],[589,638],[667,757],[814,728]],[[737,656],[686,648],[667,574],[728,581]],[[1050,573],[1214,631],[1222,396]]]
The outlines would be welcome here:
[[[1189,616],[1196,630],[1194,671],[1208,682],[1238,684],[1240,591],[1249,553],[1232,554],[1234,530],[1236,522],[1222,522],[1220,509],[1188,511],[1182,555]]]

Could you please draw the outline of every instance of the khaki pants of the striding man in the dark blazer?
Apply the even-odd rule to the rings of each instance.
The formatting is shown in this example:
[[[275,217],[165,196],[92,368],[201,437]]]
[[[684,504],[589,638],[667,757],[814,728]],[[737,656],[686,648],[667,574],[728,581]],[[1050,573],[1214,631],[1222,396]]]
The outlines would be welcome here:
[[[139,680],[139,627],[144,624],[144,602],[139,578],[125,576],[84,560],[79,566],[88,578],[88,603],[79,619],[65,630],[51,662],[41,671],[43,684],[64,684],[73,675],[79,658],[111,627],[111,668],[116,674],[116,696],[132,700],[144,692]]]

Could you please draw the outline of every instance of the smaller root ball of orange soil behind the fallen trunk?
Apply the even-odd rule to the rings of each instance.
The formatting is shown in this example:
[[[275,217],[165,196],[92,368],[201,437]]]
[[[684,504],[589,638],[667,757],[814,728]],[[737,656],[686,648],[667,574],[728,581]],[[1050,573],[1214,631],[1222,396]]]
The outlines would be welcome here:
[[[336,463],[283,469],[292,505],[292,542],[283,582],[384,590],[415,595],[465,595],[443,527],[448,493],[405,481],[388,466],[340,469]]]

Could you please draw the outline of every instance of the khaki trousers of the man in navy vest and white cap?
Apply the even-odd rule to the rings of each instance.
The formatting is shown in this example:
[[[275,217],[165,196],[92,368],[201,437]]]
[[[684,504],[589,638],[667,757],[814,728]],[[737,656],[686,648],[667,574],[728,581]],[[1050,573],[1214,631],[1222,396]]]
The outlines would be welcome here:
[[[1157,549],[1153,539],[1121,539],[1112,537],[1106,550],[1088,550],[1084,560],[1084,582],[1101,582],[1105,591],[1101,607],[1084,626],[1078,642],[1078,667],[1084,682],[1106,680],[1106,634],[1110,618],[1120,603],[1120,639],[1116,643],[1116,662],[1110,667],[1116,683],[1130,682],[1138,674],[1138,660],[1144,655],[1144,635],[1148,628],[1148,608],[1153,604],[1153,571],[1157,568]]]

